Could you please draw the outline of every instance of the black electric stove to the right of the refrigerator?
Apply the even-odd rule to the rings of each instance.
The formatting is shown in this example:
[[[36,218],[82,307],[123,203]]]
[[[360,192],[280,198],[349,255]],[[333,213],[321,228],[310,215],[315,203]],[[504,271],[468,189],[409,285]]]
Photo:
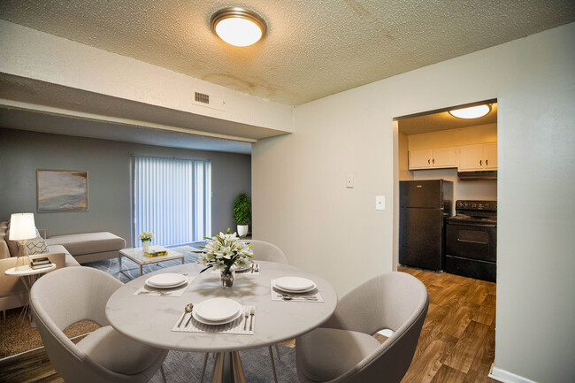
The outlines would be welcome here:
[[[456,216],[446,218],[445,271],[495,282],[497,202],[456,202]]]

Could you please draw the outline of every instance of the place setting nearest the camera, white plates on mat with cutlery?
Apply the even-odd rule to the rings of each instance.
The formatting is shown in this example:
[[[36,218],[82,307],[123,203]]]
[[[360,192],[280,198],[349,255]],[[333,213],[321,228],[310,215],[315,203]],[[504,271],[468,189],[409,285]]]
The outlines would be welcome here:
[[[243,305],[228,298],[211,298],[188,303],[172,331],[181,333],[253,334],[256,306]]]

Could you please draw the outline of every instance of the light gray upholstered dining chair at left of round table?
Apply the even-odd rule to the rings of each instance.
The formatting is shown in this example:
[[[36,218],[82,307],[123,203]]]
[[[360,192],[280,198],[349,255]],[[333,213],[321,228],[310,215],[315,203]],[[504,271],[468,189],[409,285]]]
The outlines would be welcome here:
[[[162,369],[168,350],[118,333],[105,316],[122,282],[86,266],[50,272],[35,282],[30,307],[50,363],[66,383],[144,383]],[[63,330],[80,320],[101,326],[74,344]]]

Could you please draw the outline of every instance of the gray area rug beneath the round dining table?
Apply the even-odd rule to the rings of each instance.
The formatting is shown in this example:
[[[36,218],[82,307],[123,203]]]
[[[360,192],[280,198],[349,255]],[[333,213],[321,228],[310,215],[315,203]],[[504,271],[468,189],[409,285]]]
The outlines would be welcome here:
[[[276,371],[278,372],[278,381],[281,383],[297,382],[297,372],[295,370],[295,349],[285,346],[280,347],[281,359],[274,356]],[[203,353],[170,351],[165,358],[164,371],[165,379],[168,382],[199,382],[202,376]],[[275,355],[275,348],[274,348]],[[270,359],[269,349],[248,349],[240,351],[242,359],[243,372],[246,382],[249,383],[272,383],[273,371],[272,360]],[[214,358],[212,354],[208,357],[208,364],[203,381],[211,381],[211,372],[213,369]],[[162,383],[161,372],[150,380],[150,383]]]

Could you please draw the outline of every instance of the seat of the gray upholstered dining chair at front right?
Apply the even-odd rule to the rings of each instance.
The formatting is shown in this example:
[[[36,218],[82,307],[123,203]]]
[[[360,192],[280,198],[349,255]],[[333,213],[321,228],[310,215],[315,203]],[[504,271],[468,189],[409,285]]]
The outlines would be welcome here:
[[[380,347],[380,342],[366,333],[323,327],[297,338],[295,344],[303,375],[316,381],[343,375]]]

